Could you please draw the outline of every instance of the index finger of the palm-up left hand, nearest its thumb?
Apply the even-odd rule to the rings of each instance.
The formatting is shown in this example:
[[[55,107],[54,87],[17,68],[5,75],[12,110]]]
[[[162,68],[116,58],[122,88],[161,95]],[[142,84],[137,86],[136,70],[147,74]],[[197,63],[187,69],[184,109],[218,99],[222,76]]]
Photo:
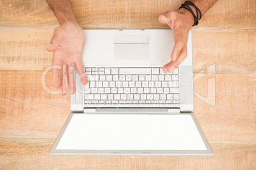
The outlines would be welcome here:
[[[62,61],[58,57],[60,53],[58,51],[53,51],[52,58],[52,74],[53,74],[53,86],[55,88],[60,88],[61,85],[61,71],[62,71]]]

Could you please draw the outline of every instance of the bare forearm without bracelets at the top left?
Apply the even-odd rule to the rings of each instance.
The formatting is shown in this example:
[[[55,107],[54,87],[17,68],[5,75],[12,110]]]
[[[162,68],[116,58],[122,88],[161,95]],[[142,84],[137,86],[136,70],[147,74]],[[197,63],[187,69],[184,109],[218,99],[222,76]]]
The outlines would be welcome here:
[[[46,0],[60,25],[67,20],[76,20],[69,0]]]

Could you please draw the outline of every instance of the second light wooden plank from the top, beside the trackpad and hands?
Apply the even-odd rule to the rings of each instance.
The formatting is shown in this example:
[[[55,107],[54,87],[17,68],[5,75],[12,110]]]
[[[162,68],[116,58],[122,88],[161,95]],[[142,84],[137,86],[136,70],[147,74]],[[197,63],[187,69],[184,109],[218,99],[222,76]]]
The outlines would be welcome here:
[[[46,51],[53,29],[0,28],[1,70],[43,70],[52,65]],[[194,72],[215,64],[223,74],[256,74],[254,30],[194,30]],[[170,49],[171,50],[171,49]]]

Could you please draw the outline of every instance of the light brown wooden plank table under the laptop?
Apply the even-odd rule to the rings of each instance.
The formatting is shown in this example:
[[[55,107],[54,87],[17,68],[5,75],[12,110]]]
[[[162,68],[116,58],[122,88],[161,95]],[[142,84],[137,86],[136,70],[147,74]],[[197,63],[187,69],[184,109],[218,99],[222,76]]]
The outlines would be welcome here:
[[[180,0],[72,0],[83,29],[167,29],[157,16]],[[44,0],[0,0],[0,169],[256,169],[255,1],[219,0],[193,28],[195,94],[216,84],[214,105],[194,96],[194,113],[213,156],[53,156],[69,95],[41,86],[58,22]],[[52,74],[46,84],[53,89]]]

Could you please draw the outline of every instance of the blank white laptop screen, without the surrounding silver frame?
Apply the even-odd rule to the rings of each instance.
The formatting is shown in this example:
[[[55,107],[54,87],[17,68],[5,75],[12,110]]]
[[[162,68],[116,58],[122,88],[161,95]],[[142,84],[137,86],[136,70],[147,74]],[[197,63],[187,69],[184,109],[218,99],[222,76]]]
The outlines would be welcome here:
[[[206,150],[192,116],[74,114],[57,150]]]

